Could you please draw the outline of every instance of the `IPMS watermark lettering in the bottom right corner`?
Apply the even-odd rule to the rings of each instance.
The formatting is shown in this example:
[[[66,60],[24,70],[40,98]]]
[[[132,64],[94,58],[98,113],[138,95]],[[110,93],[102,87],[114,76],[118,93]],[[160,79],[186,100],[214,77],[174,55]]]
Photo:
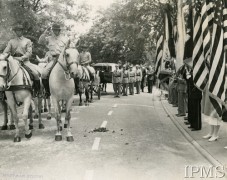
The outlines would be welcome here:
[[[185,178],[202,178],[202,179],[218,179],[227,176],[226,166],[203,166],[192,165],[185,166]]]

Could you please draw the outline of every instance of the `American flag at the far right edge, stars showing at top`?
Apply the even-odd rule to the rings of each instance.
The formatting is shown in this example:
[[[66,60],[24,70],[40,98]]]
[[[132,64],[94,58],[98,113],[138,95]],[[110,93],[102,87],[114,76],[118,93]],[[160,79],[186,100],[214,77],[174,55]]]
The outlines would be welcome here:
[[[224,56],[224,1],[214,1],[213,35],[210,58],[209,93],[211,97],[218,100],[212,103],[219,116],[222,115],[221,102],[225,101],[225,56]],[[218,106],[219,104],[219,106]]]

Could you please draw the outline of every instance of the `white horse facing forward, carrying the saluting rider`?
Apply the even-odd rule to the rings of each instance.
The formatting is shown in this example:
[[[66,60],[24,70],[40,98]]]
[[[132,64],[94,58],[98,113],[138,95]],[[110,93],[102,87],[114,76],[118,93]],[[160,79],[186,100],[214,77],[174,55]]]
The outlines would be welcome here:
[[[76,49],[64,49],[59,56],[57,64],[50,73],[49,85],[52,97],[52,103],[55,109],[55,118],[57,121],[57,132],[55,140],[61,141],[61,108],[60,101],[66,102],[65,125],[67,127],[67,141],[73,141],[73,136],[70,129],[70,110],[73,102],[75,84],[71,77],[74,77],[78,72],[79,52]]]

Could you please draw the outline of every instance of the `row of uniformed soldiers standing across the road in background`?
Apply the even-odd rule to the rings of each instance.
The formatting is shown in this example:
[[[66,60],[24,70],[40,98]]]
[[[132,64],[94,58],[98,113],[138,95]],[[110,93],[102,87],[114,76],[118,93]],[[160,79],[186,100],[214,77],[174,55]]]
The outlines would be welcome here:
[[[128,89],[129,94],[134,95],[134,87],[136,87],[136,94],[140,94],[141,90],[141,82],[143,80],[143,71],[139,65],[136,65],[135,68],[133,65],[130,65],[127,68],[126,65],[123,66],[122,69],[119,68],[119,65],[116,64],[115,70],[112,74],[112,83],[113,89],[115,92],[115,96],[119,98],[121,94],[121,87],[123,96],[128,96]],[[154,81],[154,70],[150,66],[147,71],[145,71],[145,75],[147,76],[148,81],[148,92],[152,93],[152,86]]]

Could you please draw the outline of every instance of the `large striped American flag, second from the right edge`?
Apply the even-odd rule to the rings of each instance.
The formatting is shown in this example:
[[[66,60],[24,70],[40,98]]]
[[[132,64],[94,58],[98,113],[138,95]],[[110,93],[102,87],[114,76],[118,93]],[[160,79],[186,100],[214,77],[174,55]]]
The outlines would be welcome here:
[[[208,18],[212,15],[207,4],[206,0],[195,0],[193,11],[193,80],[200,90],[205,89],[209,78],[208,58],[211,40]]]

